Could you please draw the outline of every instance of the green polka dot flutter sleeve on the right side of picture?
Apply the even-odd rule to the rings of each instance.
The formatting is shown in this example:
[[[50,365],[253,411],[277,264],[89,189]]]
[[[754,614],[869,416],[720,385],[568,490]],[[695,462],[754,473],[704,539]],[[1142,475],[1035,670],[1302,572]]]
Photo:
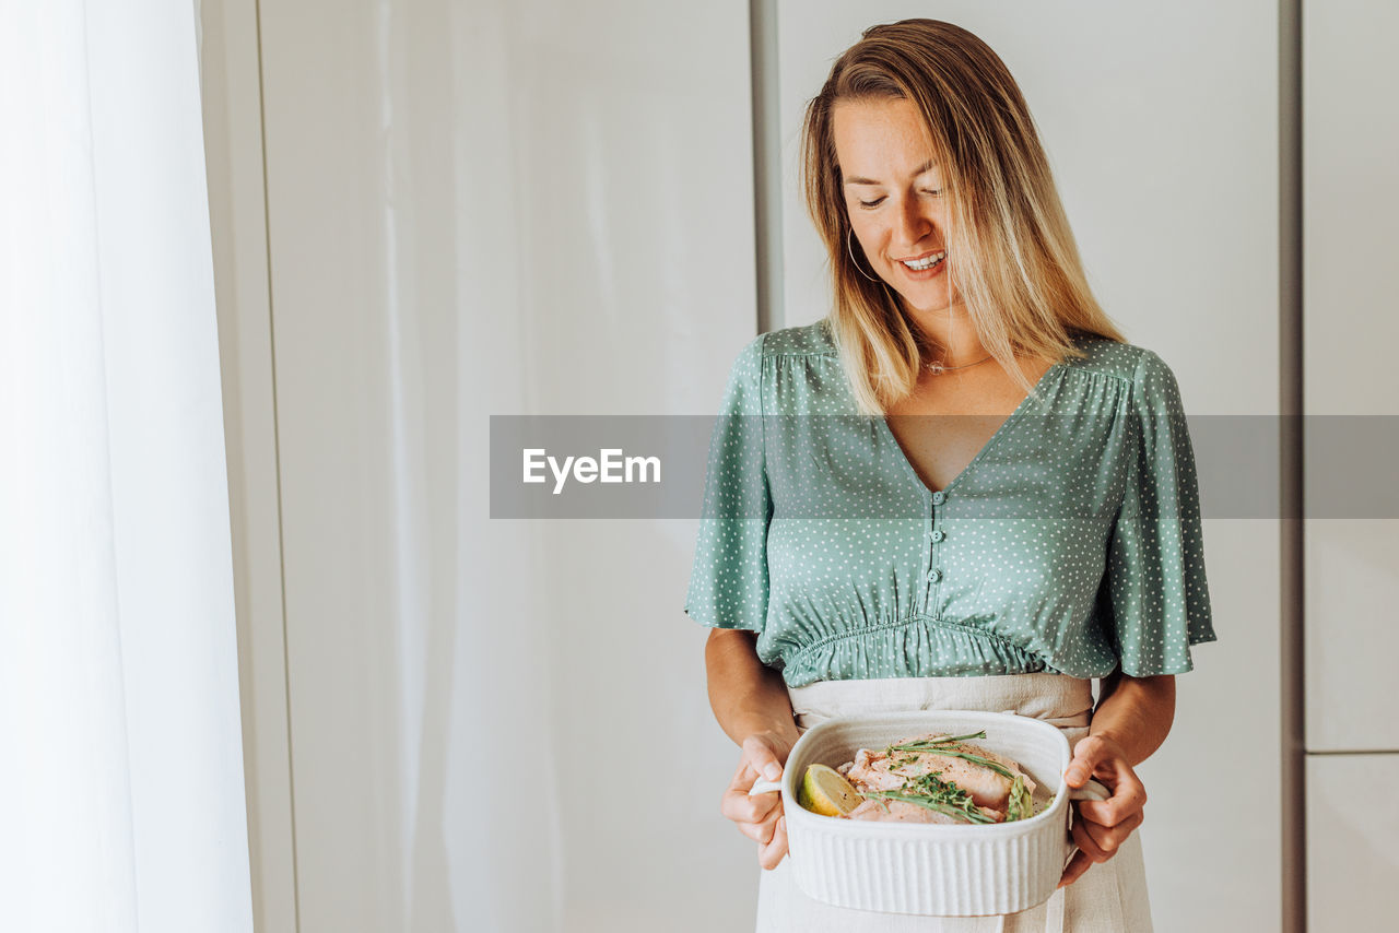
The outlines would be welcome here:
[[[1108,546],[1100,618],[1130,677],[1193,669],[1191,646],[1216,641],[1205,579],[1195,450],[1170,366],[1146,351],[1130,386],[1135,435]]]

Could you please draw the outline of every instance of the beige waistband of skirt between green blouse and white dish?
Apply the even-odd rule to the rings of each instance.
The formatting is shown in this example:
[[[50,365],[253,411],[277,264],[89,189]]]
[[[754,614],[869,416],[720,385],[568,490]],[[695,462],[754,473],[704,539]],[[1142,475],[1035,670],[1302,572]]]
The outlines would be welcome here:
[[[1011,712],[1072,730],[1093,715],[1093,681],[1063,674],[821,680],[788,687],[788,697],[802,732],[835,716],[909,709]]]

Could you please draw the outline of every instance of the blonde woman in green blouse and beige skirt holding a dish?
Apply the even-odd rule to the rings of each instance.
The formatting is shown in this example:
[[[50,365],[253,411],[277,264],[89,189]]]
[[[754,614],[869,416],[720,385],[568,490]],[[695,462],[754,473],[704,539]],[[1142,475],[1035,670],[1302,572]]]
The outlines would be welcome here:
[[[758,930],[1147,930],[1133,768],[1214,639],[1175,379],[1094,301],[1025,102],[965,29],[869,29],[803,150],[834,306],[733,366],[686,604],[741,747],[722,811],[772,870]],[[1048,904],[912,918],[792,885],[781,799],[747,790],[816,722],[891,708],[1066,732],[1067,783],[1112,796],[1079,806]]]

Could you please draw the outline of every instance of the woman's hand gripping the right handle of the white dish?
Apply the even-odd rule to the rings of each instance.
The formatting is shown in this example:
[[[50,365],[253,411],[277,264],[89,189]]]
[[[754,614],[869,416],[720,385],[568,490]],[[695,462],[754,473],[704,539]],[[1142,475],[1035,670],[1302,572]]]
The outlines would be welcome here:
[[[1146,788],[1137,779],[1122,747],[1107,736],[1086,736],[1073,748],[1063,772],[1065,783],[1081,788],[1097,778],[1112,793],[1107,800],[1079,800],[1073,841],[1079,850],[1063,870],[1059,887],[1073,884],[1095,862],[1107,862],[1142,825]]]

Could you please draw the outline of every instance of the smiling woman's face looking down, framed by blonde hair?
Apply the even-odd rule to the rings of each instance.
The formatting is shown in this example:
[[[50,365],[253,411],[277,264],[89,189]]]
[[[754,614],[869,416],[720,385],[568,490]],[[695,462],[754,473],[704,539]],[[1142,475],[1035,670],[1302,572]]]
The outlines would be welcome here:
[[[831,112],[835,157],[855,239],[874,274],[909,311],[961,304],[947,274],[943,175],[907,99],[841,101]],[[863,263],[862,263],[863,264]]]

